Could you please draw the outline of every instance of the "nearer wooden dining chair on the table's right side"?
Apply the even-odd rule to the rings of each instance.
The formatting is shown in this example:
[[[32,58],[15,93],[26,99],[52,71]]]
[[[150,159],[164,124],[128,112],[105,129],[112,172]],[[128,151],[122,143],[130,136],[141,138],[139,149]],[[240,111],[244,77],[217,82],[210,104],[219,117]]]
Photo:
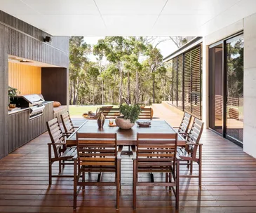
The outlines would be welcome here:
[[[180,165],[188,165],[190,167],[189,175],[180,175],[180,177],[196,177],[198,185],[201,186],[202,179],[202,145],[200,144],[201,135],[203,132],[203,122],[194,118],[191,130],[187,133],[187,142],[184,148],[177,149],[178,161],[187,161]],[[198,175],[193,175],[193,162],[198,164]]]

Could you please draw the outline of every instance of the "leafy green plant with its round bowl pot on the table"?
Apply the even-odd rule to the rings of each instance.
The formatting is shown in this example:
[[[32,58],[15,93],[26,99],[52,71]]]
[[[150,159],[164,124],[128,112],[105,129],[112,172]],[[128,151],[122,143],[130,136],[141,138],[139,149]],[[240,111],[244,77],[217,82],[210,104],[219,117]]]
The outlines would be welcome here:
[[[135,121],[139,118],[140,106],[139,104],[122,104],[120,113],[122,116],[116,117],[116,125],[123,130],[128,130],[135,125]]]

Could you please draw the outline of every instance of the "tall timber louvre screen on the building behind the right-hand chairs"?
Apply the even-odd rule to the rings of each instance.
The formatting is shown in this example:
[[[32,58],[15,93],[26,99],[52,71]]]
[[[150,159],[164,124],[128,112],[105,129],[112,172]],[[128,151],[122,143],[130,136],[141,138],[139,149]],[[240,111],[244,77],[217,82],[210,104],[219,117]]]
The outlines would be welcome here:
[[[201,45],[173,59],[173,105],[201,119]]]

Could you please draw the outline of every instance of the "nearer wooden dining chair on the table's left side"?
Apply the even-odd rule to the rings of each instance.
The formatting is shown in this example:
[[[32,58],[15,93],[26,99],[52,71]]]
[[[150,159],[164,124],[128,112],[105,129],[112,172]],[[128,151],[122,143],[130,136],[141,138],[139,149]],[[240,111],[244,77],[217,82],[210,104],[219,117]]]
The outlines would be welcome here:
[[[46,122],[46,125],[51,140],[51,143],[48,143],[49,185],[51,185],[53,177],[74,177],[73,175],[63,175],[61,172],[62,167],[73,164],[72,158],[76,155],[76,147],[67,148],[65,141],[67,135],[62,132],[58,118]],[[54,156],[52,156],[52,148]],[[53,175],[52,165],[56,161],[59,162],[59,174]]]

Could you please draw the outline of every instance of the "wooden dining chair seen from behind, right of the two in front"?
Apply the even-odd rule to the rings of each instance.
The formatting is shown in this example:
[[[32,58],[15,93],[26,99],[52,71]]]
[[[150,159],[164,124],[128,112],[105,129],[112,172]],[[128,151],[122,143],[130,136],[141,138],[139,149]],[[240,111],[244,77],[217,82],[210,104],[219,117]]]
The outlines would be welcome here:
[[[180,166],[176,160],[177,133],[137,133],[137,147],[133,153],[133,208],[136,209],[137,186],[168,186],[175,194],[175,208],[179,209]],[[166,173],[165,182],[140,182],[142,172]]]

